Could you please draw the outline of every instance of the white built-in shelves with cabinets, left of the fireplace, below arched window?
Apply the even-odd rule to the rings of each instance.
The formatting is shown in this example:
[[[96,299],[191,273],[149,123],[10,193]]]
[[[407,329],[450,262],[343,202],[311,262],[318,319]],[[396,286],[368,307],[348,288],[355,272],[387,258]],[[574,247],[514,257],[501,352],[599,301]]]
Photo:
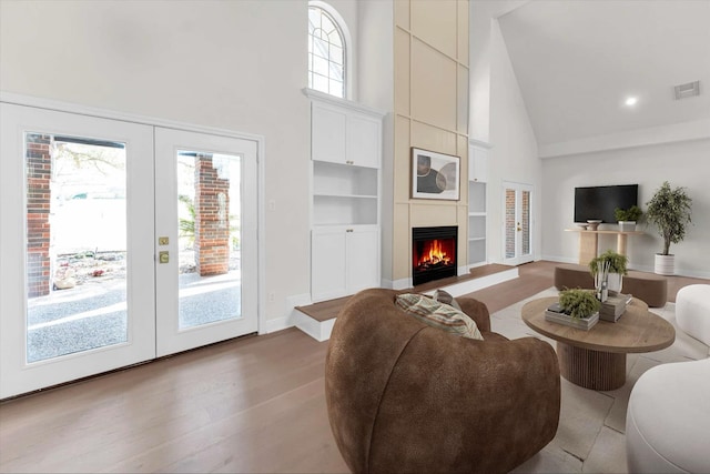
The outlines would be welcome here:
[[[382,113],[311,98],[311,299],[379,286]]]

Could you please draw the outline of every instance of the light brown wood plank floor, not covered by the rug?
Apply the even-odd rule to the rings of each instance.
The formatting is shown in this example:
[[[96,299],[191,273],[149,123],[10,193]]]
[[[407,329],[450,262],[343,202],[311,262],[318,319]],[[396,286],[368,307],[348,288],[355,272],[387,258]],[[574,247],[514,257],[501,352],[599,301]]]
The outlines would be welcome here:
[[[471,293],[493,313],[552,285],[555,263]],[[708,280],[670,278],[679,288]],[[0,472],[347,472],[324,395],[327,342],[234,340],[0,404]]]

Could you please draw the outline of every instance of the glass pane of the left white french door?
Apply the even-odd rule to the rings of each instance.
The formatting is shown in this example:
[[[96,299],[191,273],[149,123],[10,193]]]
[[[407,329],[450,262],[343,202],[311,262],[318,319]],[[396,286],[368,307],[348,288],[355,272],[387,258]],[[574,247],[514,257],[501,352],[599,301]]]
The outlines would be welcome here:
[[[24,137],[27,362],[125,343],[125,143]]]

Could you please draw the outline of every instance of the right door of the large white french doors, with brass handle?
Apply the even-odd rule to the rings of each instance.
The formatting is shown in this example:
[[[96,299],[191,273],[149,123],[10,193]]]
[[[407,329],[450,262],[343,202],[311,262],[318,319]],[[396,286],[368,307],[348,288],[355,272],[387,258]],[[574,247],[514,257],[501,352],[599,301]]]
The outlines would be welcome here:
[[[256,148],[156,129],[158,353],[256,331]]]

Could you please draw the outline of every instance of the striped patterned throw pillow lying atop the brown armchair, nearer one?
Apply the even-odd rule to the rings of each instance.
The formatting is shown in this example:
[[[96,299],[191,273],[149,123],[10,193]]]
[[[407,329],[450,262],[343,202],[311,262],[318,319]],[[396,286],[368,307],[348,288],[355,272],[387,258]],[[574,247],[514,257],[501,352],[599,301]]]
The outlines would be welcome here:
[[[397,296],[397,306],[425,324],[463,337],[483,341],[476,322],[452,305],[423,294],[405,293]]]

